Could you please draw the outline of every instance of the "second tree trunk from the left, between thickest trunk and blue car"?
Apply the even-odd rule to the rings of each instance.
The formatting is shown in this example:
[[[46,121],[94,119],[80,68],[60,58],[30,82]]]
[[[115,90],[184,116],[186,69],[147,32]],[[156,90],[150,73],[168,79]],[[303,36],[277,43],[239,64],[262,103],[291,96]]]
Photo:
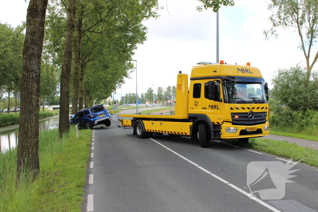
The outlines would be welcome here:
[[[73,51],[73,37],[75,27],[75,3],[76,0],[68,1],[67,10],[67,26],[66,26],[66,38],[65,49],[63,57],[63,66],[61,72],[60,83],[60,113],[59,113],[59,137],[62,138],[70,130],[70,124],[68,121],[69,116],[69,85],[70,74],[72,66],[72,51]]]

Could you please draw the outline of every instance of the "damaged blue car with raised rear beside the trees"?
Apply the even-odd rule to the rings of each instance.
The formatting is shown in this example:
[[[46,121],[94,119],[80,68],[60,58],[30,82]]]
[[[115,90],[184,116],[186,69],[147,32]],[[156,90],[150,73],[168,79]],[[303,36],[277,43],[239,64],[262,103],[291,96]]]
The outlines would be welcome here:
[[[110,126],[110,114],[103,105],[95,105],[90,108],[84,108],[75,115],[71,115],[70,124],[79,125],[79,129],[92,129],[94,126],[104,124]]]

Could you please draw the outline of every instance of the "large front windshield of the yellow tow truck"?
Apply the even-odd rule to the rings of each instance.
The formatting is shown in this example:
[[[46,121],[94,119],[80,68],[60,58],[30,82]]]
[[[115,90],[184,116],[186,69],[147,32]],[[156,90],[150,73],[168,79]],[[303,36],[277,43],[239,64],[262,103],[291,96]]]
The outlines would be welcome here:
[[[224,100],[228,103],[266,103],[264,85],[260,82],[226,83],[223,89]]]

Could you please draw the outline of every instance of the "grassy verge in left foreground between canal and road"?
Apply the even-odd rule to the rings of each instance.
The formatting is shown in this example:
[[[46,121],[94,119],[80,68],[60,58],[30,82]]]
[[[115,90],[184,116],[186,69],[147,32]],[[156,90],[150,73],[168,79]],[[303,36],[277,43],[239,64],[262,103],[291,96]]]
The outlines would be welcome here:
[[[58,129],[43,130],[39,137],[40,174],[33,182],[30,174],[16,186],[17,151],[0,154],[0,211],[80,212],[91,130],[75,130],[59,140]]]

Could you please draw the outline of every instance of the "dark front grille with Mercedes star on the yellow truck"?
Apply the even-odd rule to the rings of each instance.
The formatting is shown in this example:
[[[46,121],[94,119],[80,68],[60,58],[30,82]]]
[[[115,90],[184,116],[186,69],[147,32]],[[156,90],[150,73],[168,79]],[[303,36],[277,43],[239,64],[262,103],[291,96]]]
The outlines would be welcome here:
[[[255,112],[254,118],[252,119],[248,118],[248,113],[231,113],[231,115],[233,125],[253,126],[258,124],[265,124],[267,113]],[[238,118],[235,118],[235,116],[238,116]]]

